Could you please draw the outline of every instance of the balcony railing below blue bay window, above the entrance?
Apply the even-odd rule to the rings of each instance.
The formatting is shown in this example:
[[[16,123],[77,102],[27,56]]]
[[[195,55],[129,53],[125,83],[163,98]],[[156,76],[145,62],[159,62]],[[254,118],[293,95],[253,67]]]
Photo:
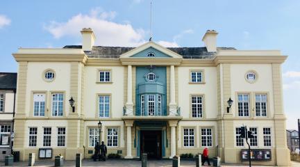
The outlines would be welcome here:
[[[140,111],[140,112],[137,112]],[[134,107],[133,110],[131,109],[128,109],[128,113],[126,113],[126,106],[123,106],[123,116],[149,116],[148,114],[145,115],[145,114],[142,114],[141,110],[140,110],[140,107]],[[133,112],[135,111],[135,112]],[[181,108],[180,107],[177,107],[176,109],[172,110],[172,111],[169,111],[169,114],[167,114],[169,111],[169,107],[167,107],[167,109],[163,109],[162,113],[161,114],[158,114],[158,111],[155,110],[154,111],[154,115],[153,116],[168,116],[168,115],[172,115],[172,116],[181,116]],[[135,113],[135,114],[134,114]],[[164,114],[166,113],[166,114]]]

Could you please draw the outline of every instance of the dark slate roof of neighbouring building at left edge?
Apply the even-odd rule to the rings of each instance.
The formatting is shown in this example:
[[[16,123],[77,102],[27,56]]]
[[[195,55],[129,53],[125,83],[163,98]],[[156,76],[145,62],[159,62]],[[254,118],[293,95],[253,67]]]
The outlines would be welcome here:
[[[0,89],[16,89],[17,73],[0,72]]]

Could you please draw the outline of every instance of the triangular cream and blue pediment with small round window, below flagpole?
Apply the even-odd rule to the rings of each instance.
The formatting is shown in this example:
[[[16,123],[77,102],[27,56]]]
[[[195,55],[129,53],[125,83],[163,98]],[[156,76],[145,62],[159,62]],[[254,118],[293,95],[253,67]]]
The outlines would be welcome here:
[[[140,47],[136,47],[120,56],[120,58],[149,58],[147,54],[154,53],[155,57],[151,58],[182,58],[181,55],[167,49],[156,42],[147,42]]]

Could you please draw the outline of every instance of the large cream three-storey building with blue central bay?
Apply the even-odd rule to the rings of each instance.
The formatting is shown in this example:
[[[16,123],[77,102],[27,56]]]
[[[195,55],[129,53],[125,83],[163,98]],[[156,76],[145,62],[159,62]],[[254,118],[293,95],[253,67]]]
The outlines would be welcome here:
[[[82,46],[13,54],[19,63],[14,150],[21,159],[30,152],[90,158],[101,120],[108,153],[126,159],[208,148],[210,157],[240,162],[247,147],[239,127],[247,125],[255,133],[252,147],[272,154],[254,164],[290,164],[281,80],[287,56],[280,51],[216,47],[216,31],[203,36],[206,47],[177,48],[152,41],[94,46],[92,29],[81,33]]]

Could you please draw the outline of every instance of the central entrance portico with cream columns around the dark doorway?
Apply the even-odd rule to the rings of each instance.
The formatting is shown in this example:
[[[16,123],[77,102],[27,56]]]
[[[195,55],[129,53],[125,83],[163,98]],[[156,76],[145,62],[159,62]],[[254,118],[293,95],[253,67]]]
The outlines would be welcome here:
[[[176,155],[176,127],[181,116],[123,116],[126,129],[126,159],[172,158]],[[131,152],[133,151],[133,152]]]

